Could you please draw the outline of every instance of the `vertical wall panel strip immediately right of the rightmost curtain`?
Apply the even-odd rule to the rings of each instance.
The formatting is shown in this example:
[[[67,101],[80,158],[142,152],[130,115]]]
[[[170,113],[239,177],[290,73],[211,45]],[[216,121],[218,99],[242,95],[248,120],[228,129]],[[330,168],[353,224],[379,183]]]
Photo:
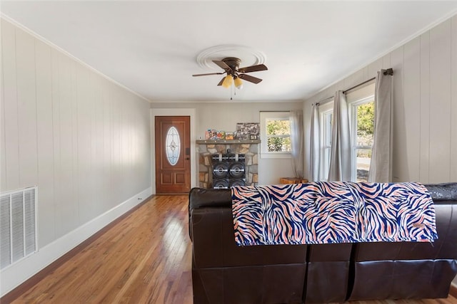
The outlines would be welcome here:
[[[391,53],[393,75],[393,182],[409,180],[406,154],[406,120],[403,104],[403,46]]]

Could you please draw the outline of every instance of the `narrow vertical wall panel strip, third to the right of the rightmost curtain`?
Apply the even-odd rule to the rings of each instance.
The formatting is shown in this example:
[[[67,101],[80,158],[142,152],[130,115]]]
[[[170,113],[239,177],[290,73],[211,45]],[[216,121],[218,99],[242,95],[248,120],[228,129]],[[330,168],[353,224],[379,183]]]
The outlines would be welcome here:
[[[419,179],[421,182],[429,182],[430,172],[430,32],[421,35],[421,83],[419,91],[421,93],[421,116],[419,121],[421,127],[421,147],[419,149]]]

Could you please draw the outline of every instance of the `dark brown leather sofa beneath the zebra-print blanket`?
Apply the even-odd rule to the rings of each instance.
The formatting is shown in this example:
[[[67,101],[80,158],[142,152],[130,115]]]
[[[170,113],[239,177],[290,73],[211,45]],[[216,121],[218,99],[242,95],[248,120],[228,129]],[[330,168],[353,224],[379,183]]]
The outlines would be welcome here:
[[[446,298],[457,274],[457,183],[426,185],[434,243],[238,247],[229,189],[191,189],[194,303]]]

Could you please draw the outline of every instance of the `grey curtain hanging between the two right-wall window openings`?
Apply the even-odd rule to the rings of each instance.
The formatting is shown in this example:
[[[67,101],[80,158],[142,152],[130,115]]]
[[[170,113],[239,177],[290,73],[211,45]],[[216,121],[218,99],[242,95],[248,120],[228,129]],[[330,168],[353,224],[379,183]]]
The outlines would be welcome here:
[[[349,132],[348,116],[346,95],[343,91],[338,90],[333,102],[328,182],[351,181],[351,133]]]

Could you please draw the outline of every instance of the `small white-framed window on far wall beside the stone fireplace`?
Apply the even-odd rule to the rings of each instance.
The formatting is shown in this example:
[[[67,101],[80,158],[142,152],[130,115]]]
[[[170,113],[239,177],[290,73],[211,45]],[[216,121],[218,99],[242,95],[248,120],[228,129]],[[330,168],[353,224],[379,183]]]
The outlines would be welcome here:
[[[261,155],[265,158],[291,156],[289,112],[260,112]]]

